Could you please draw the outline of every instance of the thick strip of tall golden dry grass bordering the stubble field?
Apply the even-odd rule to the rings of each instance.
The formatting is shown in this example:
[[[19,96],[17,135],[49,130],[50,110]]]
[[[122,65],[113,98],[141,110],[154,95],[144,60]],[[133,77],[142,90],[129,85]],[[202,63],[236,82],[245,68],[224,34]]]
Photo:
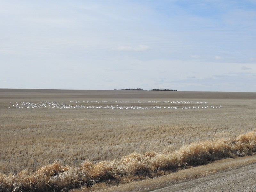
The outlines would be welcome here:
[[[10,191],[69,191],[96,183],[119,185],[134,180],[157,177],[180,169],[208,164],[223,159],[256,153],[256,132],[235,139],[195,142],[173,152],[133,153],[120,159],[93,163],[84,161],[78,167],[62,166],[58,162],[35,172],[23,170],[14,175],[0,175],[0,190]],[[84,188],[85,190],[85,188]]]

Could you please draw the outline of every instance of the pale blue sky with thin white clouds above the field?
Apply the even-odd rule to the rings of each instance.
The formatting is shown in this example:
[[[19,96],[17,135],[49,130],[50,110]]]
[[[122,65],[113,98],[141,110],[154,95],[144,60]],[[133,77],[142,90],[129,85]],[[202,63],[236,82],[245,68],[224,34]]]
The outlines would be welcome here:
[[[255,0],[1,0],[0,18],[0,88],[256,92]]]

